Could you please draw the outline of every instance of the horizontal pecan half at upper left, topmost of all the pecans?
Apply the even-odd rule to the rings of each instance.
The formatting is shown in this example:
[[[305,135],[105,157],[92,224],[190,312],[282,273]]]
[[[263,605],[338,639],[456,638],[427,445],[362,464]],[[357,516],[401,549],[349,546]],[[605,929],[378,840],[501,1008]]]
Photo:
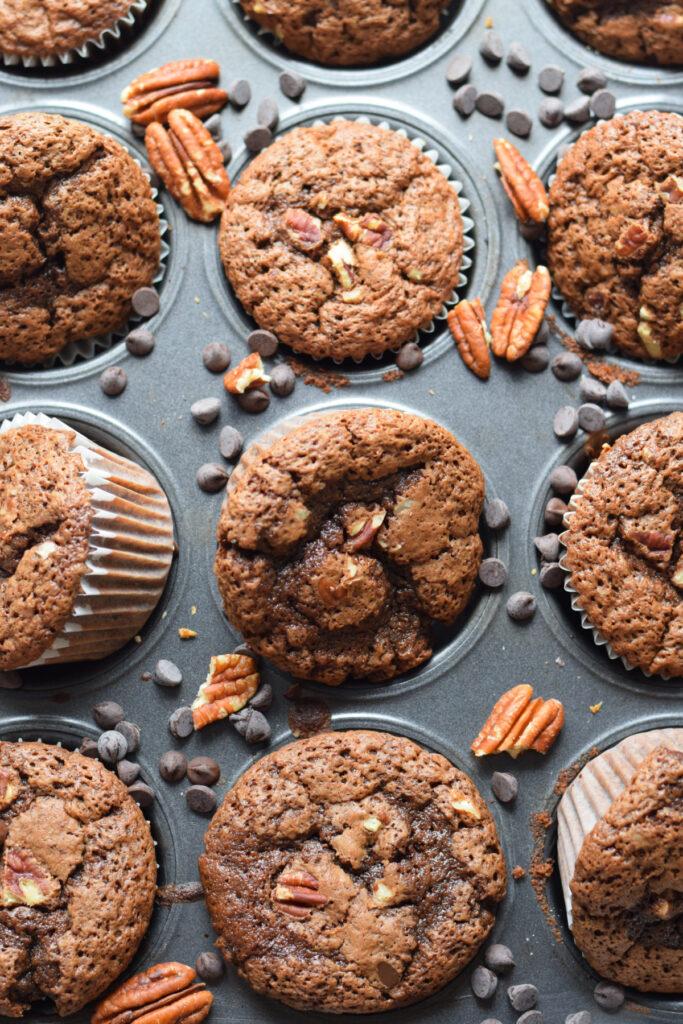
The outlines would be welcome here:
[[[137,125],[165,124],[171,111],[191,111],[198,118],[215,114],[227,102],[217,89],[215,60],[172,60],[133,79],[121,93],[124,115]]]

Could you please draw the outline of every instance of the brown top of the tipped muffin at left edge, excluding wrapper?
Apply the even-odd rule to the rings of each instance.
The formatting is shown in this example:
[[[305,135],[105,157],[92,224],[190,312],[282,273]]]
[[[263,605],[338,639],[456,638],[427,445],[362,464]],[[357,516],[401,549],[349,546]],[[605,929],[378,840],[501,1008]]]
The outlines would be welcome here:
[[[73,438],[39,426],[0,433],[0,671],[40,657],[80,592],[92,506]]]

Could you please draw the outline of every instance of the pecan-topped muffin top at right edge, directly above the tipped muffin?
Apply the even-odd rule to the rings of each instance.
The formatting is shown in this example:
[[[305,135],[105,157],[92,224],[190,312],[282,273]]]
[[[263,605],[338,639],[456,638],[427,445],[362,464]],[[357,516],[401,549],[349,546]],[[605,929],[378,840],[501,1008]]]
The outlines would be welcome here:
[[[591,626],[630,665],[683,676],[683,413],[605,449],[566,522],[565,563]]]

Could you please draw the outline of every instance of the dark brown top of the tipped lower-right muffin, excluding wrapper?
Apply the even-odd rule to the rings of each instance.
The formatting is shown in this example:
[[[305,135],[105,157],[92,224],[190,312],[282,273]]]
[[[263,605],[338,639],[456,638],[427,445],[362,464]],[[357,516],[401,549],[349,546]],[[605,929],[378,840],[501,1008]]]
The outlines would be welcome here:
[[[586,837],[571,881],[577,945],[603,977],[683,991],[683,754],[659,746]]]

